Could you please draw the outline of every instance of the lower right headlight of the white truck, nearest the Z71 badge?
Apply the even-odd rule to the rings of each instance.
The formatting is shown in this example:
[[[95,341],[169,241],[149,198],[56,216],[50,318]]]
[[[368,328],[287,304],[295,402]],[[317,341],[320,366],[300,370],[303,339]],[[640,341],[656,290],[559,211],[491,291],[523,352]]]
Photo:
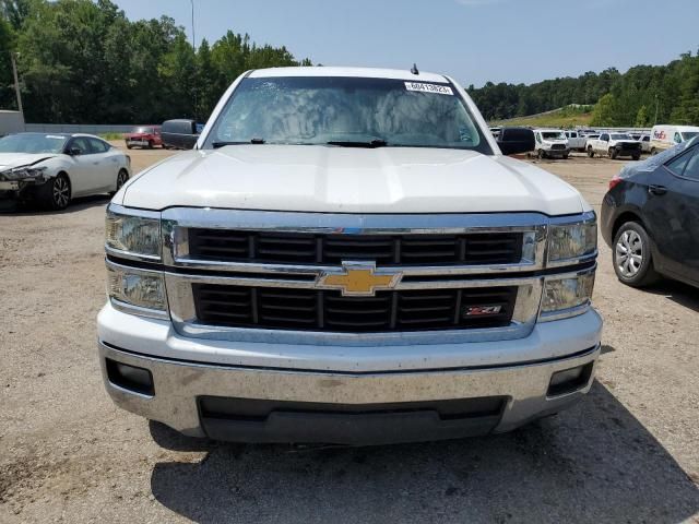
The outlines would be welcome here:
[[[593,288],[594,270],[576,276],[547,277],[544,281],[542,320],[573,317],[584,312],[592,299]]]

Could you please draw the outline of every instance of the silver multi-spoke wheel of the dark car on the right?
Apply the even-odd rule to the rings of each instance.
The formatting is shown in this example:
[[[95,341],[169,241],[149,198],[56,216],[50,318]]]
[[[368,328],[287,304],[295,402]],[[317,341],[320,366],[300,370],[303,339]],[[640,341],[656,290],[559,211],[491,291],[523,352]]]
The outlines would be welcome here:
[[[617,278],[628,286],[648,286],[657,279],[651,239],[638,222],[627,222],[616,233],[612,259]]]

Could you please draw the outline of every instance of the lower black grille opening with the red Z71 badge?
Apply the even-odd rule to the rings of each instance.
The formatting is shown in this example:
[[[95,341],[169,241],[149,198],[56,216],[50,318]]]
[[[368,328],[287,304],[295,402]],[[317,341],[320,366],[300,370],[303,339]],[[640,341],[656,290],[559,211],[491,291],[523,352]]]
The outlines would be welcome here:
[[[510,324],[517,286],[378,291],[343,297],[340,291],[223,284],[192,284],[199,323],[229,327],[348,333],[469,330]],[[491,315],[465,314],[470,307],[500,306]]]

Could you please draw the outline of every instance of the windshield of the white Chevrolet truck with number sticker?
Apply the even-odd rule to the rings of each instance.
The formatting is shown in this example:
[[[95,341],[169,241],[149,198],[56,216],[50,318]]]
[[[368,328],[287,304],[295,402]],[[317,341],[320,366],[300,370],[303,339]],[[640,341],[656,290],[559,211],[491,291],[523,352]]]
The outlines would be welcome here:
[[[251,142],[493,153],[451,84],[392,79],[245,79],[216,119],[204,148]]]

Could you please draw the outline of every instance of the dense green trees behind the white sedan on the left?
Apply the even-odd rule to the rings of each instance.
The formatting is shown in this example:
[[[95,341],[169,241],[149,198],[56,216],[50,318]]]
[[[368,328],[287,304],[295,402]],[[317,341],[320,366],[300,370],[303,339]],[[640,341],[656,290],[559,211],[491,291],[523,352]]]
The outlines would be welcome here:
[[[171,17],[130,21],[110,0],[0,0],[0,108],[15,108],[11,51],[27,122],[205,121],[240,73],[310,66],[233,31],[194,49]]]

